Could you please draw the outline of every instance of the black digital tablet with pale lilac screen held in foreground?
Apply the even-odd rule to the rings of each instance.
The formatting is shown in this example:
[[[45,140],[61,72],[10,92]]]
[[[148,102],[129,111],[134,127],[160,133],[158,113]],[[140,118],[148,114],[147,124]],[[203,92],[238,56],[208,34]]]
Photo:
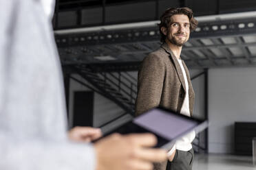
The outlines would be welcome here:
[[[104,136],[115,132],[120,134],[149,132],[158,138],[156,147],[171,149],[178,138],[192,131],[201,132],[207,126],[208,121],[206,120],[186,117],[183,114],[158,107],[140,114]]]

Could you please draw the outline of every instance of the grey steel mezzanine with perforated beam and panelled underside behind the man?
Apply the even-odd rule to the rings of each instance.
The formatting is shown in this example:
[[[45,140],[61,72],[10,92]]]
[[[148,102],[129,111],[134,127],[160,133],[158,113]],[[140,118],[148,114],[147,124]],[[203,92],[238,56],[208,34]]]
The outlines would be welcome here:
[[[158,8],[159,2],[164,1],[158,1]],[[191,33],[181,54],[189,68],[256,65],[255,12],[196,16],[196,19],[198,28]],[[56,30],[63,65],[87,64],[105,71],[138,69],[143,58],[160,47],[159,21],[120,23]]]

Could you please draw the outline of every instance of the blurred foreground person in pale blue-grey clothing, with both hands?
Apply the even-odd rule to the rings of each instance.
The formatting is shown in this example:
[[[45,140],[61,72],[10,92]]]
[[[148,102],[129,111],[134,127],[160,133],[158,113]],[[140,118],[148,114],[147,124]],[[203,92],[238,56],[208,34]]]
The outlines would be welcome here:
[[[53,5],[0,0],[0,169],[151,169],[166,158],[150,148],[151,134],[114,134],[95,145],[81,141],[98,138],[98,129],[76,127],[67,135]]]

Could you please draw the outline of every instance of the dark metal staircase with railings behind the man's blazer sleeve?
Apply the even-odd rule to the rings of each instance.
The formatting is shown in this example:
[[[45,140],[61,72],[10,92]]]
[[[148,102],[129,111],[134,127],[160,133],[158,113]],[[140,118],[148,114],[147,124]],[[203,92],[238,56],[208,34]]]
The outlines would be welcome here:
[[[72,70],[92,85],[87,87],[114,101],[125,112],[134,116],[136,79],[129,73],[94,73],[86,65],[72,66]]]

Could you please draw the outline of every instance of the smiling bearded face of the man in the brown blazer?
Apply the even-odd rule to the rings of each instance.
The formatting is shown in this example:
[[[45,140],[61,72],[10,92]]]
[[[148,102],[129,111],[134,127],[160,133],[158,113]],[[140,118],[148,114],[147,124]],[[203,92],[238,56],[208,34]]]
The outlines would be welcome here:
[[[189,40],[189,17],[184,14],[175,14],[171,16],[171,23],[169,29],[162,29],[162,32],[167,36],[167,40],[173,45],[181,47],[184,43]]]

